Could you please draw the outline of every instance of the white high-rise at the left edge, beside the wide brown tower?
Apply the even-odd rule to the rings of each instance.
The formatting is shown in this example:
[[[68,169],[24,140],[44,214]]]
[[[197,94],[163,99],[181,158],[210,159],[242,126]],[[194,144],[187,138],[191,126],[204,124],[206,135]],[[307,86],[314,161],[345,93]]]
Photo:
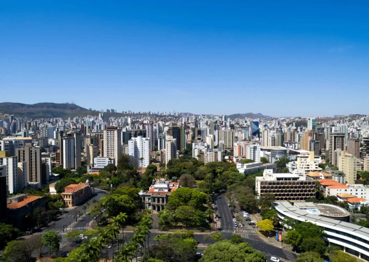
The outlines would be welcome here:
[[[0,166],[6,167],[9,194],[18,192],[18,160],[16,156],[8,156],[7,151],[0,151]]]

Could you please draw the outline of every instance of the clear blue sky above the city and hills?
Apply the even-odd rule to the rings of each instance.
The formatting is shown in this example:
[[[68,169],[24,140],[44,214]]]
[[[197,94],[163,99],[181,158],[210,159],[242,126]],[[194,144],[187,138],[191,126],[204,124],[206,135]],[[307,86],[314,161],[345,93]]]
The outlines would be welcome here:
[[[369,114],[369,2],[322,2],[3,1],[0,102]]]

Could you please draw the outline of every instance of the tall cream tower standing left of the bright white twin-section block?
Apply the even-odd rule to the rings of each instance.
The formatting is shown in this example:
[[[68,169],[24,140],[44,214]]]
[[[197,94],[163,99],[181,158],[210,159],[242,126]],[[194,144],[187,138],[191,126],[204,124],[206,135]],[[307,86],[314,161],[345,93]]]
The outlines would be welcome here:
[[[142,137],[141,137],[142,138]],[[103,157],[109,157],[118,163],[121,154],[121,129],[108,127],[104,130],[104,154]]]

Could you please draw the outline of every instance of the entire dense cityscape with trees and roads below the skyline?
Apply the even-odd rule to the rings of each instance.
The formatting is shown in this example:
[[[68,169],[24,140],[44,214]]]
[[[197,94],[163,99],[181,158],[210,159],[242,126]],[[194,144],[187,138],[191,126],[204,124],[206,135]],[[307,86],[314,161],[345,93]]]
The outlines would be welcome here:
[[[4,111],[0,261],[369,261],[368,121]]]

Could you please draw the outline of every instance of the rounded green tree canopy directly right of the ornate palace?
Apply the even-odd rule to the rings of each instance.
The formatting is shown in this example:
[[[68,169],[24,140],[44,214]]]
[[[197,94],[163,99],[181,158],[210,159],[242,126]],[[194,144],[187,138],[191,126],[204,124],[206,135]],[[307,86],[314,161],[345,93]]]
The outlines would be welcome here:
[[[179,206],[190,206],[199,209],[207,195],[191,188],[178,188],[170,196],[168,200],[168,209],[176,210]]]

